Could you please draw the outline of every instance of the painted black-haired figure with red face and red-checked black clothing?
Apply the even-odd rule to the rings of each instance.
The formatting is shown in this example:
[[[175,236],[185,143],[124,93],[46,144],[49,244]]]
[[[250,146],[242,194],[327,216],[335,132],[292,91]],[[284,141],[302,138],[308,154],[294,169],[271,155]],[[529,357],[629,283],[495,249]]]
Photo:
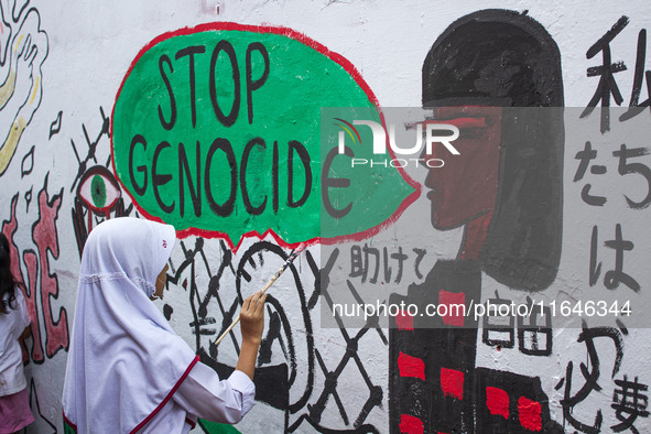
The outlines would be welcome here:
[[[484,274],[536,292],[561,256],[564,128],[558,48],[525,13],[485,10],[454,22],[423,65],[423,106],[456,124],[462,156],[430,170],[432,225],[464,228],[457,259],[390,303],[481,303]],[[435,154],[425,155],[434,159]],[[397,317],[390,329],[393,433],[562,432],[539,378],[476,367],[473,316]]]

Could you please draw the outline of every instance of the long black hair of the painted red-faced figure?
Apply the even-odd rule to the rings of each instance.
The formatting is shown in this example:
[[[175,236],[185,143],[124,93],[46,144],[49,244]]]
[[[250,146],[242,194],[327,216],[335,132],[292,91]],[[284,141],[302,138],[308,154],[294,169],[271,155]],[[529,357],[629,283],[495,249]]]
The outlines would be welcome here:
[[[478,260],[510,287],[547,287],[562,239],[563,112],[549,109],[563,107],[556,43],[524,13],[463,17],[427,53],[423,106],[502,108],[497,199]]]

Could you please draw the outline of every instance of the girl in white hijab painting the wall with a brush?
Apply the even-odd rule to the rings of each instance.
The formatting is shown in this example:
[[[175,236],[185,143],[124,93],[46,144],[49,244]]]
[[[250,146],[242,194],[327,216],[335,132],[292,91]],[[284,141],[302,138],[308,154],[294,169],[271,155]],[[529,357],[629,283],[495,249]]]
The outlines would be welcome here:
[[[63,391],[66,428],[187,433],[197,417],[237,423],[253,405],[265,295],[245,300],[239,360],[220,381],[150,301],[162,295],[175,240],[170,225],[128,217],[88,236]]]

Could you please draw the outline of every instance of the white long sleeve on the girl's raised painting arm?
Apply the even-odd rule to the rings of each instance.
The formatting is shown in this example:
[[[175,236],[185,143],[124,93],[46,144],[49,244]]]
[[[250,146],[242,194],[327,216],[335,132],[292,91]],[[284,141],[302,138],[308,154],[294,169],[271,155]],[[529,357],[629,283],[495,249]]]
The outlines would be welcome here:
[[[256,386],[242,371],[219,380],[208,366],[197,362],[163,408],[139,434],[183,433],[198,417],[211,422],[238,423],[253,406]]]

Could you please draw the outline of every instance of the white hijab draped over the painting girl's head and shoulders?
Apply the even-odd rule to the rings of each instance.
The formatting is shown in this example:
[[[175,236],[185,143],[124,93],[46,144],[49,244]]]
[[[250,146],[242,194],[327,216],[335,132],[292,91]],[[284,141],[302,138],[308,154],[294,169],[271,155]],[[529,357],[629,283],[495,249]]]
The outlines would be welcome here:
[[[115,218],[82,257],[63,411],[78,433],[131,433],[170,400],[198,360],[151,302],[174,227]]]

